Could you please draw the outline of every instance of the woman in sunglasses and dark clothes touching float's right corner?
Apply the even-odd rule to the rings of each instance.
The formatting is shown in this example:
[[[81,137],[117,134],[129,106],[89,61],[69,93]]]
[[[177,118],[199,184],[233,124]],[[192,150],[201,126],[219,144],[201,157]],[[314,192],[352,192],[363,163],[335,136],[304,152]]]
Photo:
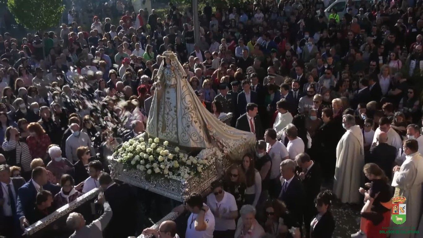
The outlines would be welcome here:
[[[223,180],[223,189],[235,197],[238,210],[244,205],[245,175],[239,165],[233,164],[227,170]]]

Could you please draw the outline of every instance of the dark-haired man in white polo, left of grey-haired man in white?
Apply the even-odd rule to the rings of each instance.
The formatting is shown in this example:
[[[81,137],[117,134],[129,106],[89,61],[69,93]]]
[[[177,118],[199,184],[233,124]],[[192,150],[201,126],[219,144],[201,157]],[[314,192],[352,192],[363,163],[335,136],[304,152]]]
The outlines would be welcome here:
[[[264,133],[264,141],[267,143],[267,153],[272,158],[270,167],[269,196],[277,197],[280,193],[280,162],[289,158],[288,150],[282,142],[276,140],[276,131],[267,129]]]

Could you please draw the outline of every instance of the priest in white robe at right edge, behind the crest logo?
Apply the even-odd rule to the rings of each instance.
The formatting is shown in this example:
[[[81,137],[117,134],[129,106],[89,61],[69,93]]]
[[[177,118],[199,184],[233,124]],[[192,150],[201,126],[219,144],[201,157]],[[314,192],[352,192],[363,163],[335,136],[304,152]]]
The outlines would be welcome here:
[[[404,141],[403,149],[406,159],[401,167],[397,165],[393,168],[395,174],[392,185],[395,185],[395,196],[404,196],[407,199],[405,201],[407,219],[401,225],[393,223],[391,225],[409,230],[409,227],[417,229],[421,215],[423,157],[418,152],[418,142],[414,139]],[[414,238],[415,234],[391,234],[391,238],[396,237]]]

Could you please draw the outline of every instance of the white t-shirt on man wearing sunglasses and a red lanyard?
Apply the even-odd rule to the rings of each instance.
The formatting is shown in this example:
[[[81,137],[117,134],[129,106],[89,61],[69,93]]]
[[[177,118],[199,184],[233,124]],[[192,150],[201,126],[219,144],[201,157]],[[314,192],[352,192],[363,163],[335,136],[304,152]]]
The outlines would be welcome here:
[[[207,196],[207,206],[211,210],[218,209],[219,213],[222,215],[228,214],[231,211],[238,210],[238,207],[236,206],[235,197],[226,191],[225,191],[225,194],[223,194],[222,201],[220,202],[216,201],[216,196],[214,196],[214,194],[209,194],[209,196]],[[229,220],[229,219],[215,217],[214,221],[215,221],[214,230],[225,231],[225,230],[236,229],[235,219]]]

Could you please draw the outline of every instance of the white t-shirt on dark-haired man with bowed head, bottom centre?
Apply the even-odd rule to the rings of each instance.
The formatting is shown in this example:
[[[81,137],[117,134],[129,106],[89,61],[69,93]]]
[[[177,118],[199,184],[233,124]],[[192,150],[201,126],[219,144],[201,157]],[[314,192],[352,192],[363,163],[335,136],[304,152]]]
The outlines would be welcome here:
[[[206,204],[204,204],[206,205]],[[211,213],[210,208],[204,214],[204,222],[206,222],[207,228],[203,231],[195,230],[195,219],[198,214],[191,213],[188,217],[187,231],[185,232],[185,238],[213,238],[214,232],[214,216]]]

